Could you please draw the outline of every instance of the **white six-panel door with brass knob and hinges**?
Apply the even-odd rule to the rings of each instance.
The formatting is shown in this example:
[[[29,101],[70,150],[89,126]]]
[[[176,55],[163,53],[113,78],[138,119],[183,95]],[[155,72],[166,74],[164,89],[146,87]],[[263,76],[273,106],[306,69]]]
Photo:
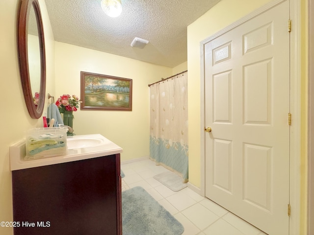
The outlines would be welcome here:
[[[288,0],[204,45],[206,197],[289,234]]]

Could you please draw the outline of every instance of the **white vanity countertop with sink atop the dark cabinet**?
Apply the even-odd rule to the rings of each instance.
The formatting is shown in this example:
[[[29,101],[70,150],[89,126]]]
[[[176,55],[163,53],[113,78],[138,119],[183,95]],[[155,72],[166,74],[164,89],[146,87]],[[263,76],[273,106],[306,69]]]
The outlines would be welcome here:
[[[26,141],[21,140],[10,145],[11,171],[44,165],[68,163],[84,159],[97,158],[122,153],[123,151],[121,147],[109,141],[100,134],[69,136],[67,140],[70,139],[80,139],[81,141],[85,139],[97,139],[99,141],[99,144],[97,144],[96,146],[94,145],[68,149],[67,154],[63,156],[54,156],[49,158],[40,158],[25,161],[24,157],[26,156]]]

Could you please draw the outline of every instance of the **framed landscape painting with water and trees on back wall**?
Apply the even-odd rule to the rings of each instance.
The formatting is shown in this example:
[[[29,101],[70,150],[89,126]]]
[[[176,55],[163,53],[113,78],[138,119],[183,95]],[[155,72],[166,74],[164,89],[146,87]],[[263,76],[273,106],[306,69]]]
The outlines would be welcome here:
[[[80,72],[80,109],[132,110],[132,79]]]

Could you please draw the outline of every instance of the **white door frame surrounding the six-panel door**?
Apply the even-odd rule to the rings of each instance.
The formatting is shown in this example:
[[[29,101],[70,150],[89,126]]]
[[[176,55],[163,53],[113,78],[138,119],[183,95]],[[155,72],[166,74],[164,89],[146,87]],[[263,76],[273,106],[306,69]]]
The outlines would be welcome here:
[[[200,43],[201,48],[201,190],[205,196],[205,76],[204,76],[204,48],[205,44],[214,38],[232,30],[236,26],[262,14],[263,12],[275,7],[286,0],[273,0],[258,8],[249,15],[227,26],[218,33],[210,36]],[[290,6],[290,20],[293,25],[290,33],[290,113],[292,114],[292,124],[290,126],[290,205],[291,215],[289,220],[290,235],[299,234],[300,231],[300,156],[301,156],[301,3],[299,0],[288,0]],[[287,19],[288,25],[288,19]],[[288,30],[288,26],[287,26]],[[288,122],[288,113],[287,113]],[[287,156],[288,157],[288,156]],[[287,205],[288,216],[288,205]]]

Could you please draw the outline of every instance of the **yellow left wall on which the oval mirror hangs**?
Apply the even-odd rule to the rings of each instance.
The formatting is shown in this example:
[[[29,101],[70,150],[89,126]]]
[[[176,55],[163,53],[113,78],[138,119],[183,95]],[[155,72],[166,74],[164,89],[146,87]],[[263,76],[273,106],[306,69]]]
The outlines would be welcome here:
[[[0,1],[0,99],[2,111],[0,116],[0,221],[13,221],[12,184],[9,162],[9,145],[25,137],[27,129],[42,126],[42,120],[30,118],[22,90],[18,47],[17,25],[20,0]],[[47,86],[54,87],[54,52],[53,36],[48,19],[45,1],[39,0],[42,8],[44,31],[46,37]],[[52,86],[53,85],[53,86]],[[54,89],[54,88],[53,88]],[[52,90],[53,90],[52,89]],[[12,228],[0,227],[1,235],[12,235]]]

